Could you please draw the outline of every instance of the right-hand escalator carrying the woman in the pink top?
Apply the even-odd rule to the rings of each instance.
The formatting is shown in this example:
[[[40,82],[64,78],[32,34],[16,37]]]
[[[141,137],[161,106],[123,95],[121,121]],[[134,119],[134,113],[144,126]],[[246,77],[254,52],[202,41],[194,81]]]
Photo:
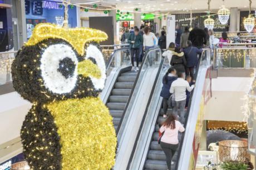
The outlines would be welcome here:
[[[202,119],[202,115],[199,114],[201,102],[206,99],[205,88],[209,87],[205,85],[206,76],[211,68],[210,61],[210,49],[205,48],[203,54],[199,58],[198,69],[196,70],[196,84],[195,89],[191,92],[189,101],[189,107],[185,112],[185,132],[179,133],[179,147],[173,156],[173,169],[193,169],[189,168],[191,156],[193,154],[195,139],[195,130],[198,128],[198,123]],[[157,142],[159,138],[159,125],[164,121],[163,118],[163,98],[160,97],[163,76],[166,73],[166,69],[162,69],[163,72],[155,80],[154,89],[151,91],[150,99],[147,103],[147,110],[144,113],[144,119],[140,124],[140,131],[137,133],[136,143],[130,155],[129,163],[126,169],[167,169],[166,157]],[[172,110],[168,110],[169,113]],[[194,158],[196,161],[196,157]],[[194,163],[195,166],[195,163]]]

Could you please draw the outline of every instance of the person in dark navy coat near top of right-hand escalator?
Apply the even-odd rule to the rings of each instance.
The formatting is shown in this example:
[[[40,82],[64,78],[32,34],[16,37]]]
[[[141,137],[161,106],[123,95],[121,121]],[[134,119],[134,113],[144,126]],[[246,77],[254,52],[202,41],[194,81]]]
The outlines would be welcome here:
[[[203,52],[203,49],[193,47],[189,40],[188,45],[189,47],[183,50],[186,59],[186,75],[190,75],[192,80],[194,80],[195,69],[198,65],[198,56]]]

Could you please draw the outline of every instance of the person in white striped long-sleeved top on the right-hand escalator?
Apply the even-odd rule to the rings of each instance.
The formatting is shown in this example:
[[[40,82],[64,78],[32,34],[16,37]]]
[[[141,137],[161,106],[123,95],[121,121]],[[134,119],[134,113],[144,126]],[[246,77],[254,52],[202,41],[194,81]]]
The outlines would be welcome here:
[[[190,87],[188,81],[185,80],[185,74],[178,72],[178,79],[171,84],[170,94],[174,93],[175,106],[173,113],[180,116],[180,122],[185,123],[185,105],[186,105],[186,90],[192,91],[193,86]]]

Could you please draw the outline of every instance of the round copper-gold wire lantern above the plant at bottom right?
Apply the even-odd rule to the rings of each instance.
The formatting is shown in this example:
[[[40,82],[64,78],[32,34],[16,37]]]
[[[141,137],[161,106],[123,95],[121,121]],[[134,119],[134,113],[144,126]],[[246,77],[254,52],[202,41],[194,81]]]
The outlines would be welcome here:
[[[249,162],[248,143],[235,140],[219,142],[219,159],[221,162]]]

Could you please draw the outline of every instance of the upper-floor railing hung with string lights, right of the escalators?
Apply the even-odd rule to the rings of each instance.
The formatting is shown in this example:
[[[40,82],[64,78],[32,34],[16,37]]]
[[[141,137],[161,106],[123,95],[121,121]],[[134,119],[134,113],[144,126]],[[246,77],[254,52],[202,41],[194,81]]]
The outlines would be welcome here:
[[[214,68],[256,68],[256,43],[219,43],[213,50]]]

